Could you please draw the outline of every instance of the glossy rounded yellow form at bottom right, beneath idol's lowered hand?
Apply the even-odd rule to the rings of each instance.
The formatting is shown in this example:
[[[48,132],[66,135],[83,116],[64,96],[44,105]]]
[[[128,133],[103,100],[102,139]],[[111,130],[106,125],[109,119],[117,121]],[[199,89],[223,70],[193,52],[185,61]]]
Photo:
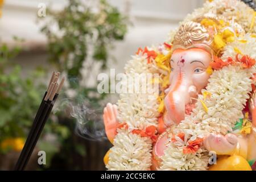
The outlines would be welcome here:
[[[209,171],[251,171],[250,164],[239,155],[221,156]]]

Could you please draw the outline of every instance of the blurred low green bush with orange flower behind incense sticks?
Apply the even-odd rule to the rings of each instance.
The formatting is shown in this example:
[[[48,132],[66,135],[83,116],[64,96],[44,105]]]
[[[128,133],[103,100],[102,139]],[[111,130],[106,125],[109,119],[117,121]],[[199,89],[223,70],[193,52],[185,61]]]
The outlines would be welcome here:
[[[18,39],[15,38],[17,41]],[[45,71],[37,68],[22,77],[22,68],[11,61],[18,55],[20,48],[9,48],[0,44],[0,153],[7,154],[10,150],[22,150],[24,141],[30,131],[36,111],[42,101],[46,85],[39,78],[45,77]],[[46,123],[43,135],[55,135],[56,143],[51,147],[43,147],[50,155],[57,152],[60,143],[69,135],[67,127],[57,122]],[[44,140],[39,140],[45,142]],[[42,144],[38,145],[39,150]]]

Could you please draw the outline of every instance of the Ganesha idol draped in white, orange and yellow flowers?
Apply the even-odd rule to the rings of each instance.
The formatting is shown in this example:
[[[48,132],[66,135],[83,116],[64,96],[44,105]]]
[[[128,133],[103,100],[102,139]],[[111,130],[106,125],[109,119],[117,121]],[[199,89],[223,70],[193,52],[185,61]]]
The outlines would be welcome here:
[[[204,6],[254,13],[242,2],[222,2]],[[255,168],[254,22],[248,30],[225,12],[212,12],[195,13],[170,42],[139,49],[127,63],[126,73],[159,73],[160,92],[152,94],[155,100],[121,94],[118,105],[105,107],[106,135],[114,144],[104,158],[108,169]]]

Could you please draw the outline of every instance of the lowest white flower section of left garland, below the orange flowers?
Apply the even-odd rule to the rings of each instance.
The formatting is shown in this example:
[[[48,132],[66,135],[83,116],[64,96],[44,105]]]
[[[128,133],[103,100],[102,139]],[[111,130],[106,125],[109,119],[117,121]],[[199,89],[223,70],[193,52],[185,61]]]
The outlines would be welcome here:
[[[141,137],[122,129],[114,139],[114,146],[106,165],[111,171],[145,171],[151,166],[152,143],[147,137]]]

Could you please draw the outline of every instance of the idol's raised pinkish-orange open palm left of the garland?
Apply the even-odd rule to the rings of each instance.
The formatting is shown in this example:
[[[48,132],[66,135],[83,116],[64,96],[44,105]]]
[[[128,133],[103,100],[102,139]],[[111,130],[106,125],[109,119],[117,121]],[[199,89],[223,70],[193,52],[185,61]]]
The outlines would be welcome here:
[[[118,119],[117,119],[118,111],[117,105],[112,105],[108,103],[104,108],[104,125],[106,135],[111,143],[113,143],[114,137],[117,134],[117,126],[118,126]]]

